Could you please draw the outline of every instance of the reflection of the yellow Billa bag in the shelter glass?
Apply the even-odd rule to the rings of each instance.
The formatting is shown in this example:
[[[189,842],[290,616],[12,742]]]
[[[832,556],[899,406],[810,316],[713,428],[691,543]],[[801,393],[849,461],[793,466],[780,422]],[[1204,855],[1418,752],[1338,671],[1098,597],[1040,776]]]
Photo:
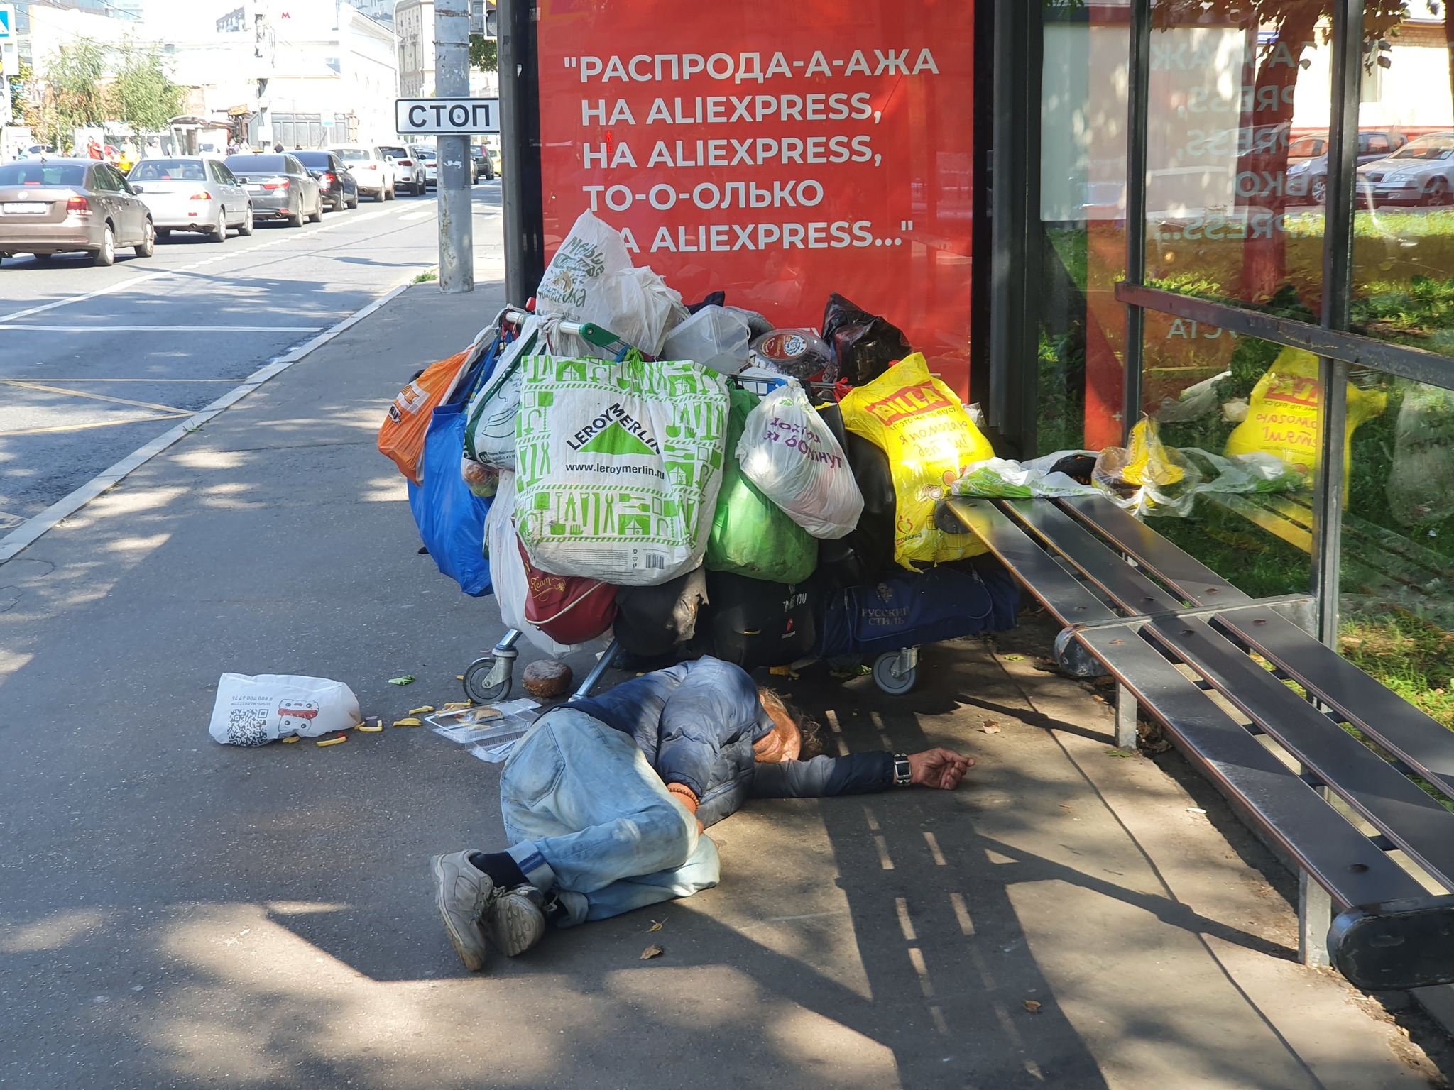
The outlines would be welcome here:
[[[1343,446],[1343,485],[1352,469],[1354,430],[1380,416],[1389,398],[1348,384],[1348,424]],[[1282,349],[1248,398],[1248,419],[1227,436],[1226,453],[1258,451],[1281,458],[1307,475],[1309,483],[1322,461],[1323,388],[1317,379],[1317,356],[1301,349]],[[1346,494],[1346,491],[1345,491]]]

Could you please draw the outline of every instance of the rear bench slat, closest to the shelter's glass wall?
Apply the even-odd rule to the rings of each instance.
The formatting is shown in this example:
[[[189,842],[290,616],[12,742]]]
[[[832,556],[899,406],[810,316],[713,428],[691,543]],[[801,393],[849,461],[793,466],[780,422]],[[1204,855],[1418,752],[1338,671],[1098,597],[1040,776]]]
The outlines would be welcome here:
[[[1214,605],[1213,596],[1205,594],[1208,587],[1230,586],[1109,500],[1075,498],[1064,506],[1197,605]],[[1252,600],[1236,587],[1230,593]],[[1226,590],[1217,594],[1218,600],[1227,597]],[[1365,674],[1333,648],[1313,639],[1277,610],[1224,613],[1217,616],[1217,625],[1454,798],[1454,735],[1438,719]]]

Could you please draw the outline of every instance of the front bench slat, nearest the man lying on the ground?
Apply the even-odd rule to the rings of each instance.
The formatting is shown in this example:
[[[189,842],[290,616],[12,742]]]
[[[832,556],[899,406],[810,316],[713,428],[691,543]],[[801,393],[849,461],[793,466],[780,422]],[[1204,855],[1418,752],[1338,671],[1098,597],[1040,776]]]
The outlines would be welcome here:
[[[992,503],[954,498],[948,506],[1061,623],[1101,623],[1115,618]],[[1403,868],[1154,647],[1130,629],[1117,628],[1086,631],[1080,639],[1181,743],[1202,773],[1230,795],[1245,799],[1272,840],[1341,905],[1423,892]]]

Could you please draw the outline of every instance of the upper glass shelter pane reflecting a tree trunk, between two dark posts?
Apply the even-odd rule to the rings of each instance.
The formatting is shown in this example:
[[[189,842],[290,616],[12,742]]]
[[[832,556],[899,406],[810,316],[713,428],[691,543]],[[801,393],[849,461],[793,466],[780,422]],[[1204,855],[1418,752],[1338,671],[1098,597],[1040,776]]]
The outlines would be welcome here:
[[[1153,1],[1147,283],[1317,321],[1326,7]]]

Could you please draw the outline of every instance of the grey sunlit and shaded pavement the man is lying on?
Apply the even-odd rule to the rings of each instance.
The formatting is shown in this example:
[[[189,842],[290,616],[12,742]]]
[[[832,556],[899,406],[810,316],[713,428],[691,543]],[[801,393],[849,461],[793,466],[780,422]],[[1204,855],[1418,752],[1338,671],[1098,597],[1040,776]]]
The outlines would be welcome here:
[[[1205,782],[1037,669],[1034,618],[926,648],[907,698],[787,686],[845,750],[971,753],[958,792],[753,804],[717,889],[464,972],[427,859],[503,846],[496,766],[206,721],[224,670],[459,699],[499,616],[417,554],[374,437],[499,304],[404,292],[0,565],[0,1084],[1441,1084],[1294,962],[1296,884]]]

